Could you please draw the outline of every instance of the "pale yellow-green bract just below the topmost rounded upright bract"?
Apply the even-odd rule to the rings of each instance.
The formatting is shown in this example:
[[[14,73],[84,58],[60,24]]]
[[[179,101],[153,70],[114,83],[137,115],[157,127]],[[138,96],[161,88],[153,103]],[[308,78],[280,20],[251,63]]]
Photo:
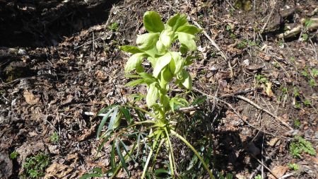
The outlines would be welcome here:
[[[159,33],[146,33],[137,37],[136,44],[141,50],[151,50],[155,47],[158,39]]]

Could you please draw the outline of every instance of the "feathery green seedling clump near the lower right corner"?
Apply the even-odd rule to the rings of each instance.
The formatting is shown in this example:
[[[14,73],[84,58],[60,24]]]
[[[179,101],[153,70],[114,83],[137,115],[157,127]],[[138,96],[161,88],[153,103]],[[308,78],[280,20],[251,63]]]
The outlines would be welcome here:
[[[295,136],[293,142],[290,144],[289,151],[291,156],[296,158],[301,158],[302,153],[310,154],[311,156],[316,155],[312,144],[300,136]]]

